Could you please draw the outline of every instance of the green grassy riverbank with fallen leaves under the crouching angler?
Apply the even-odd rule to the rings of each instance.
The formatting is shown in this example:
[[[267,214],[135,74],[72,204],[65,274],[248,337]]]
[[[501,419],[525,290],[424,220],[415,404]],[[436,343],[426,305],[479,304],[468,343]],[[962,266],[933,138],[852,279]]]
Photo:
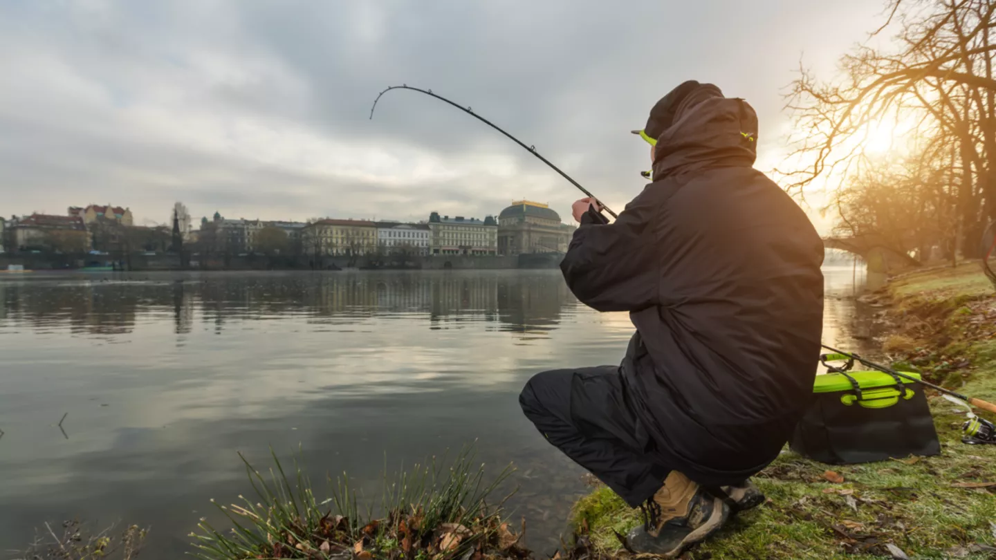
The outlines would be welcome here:
[[[977,265],[907,276],[876,297],[889,304],[883,317],[889,359],[996,402],[996,297]],[[961,443],[964,416],[939,398],[931,399],[931,409],[941,455],[831,467],[783,451],[756,478],[768,503],[686,557],[887,557],[890,543],[913,558],[996,558],[971,548],[996,546],[996,487],[952,485],[996,481],[996,445]],[[845,482],[824,479],[828,468]],[[604,486],[576,505],[574,522],[586,521],[594,543],[609,554],[620,552],[613,530],[625,534],[640,522],[638,510]]]

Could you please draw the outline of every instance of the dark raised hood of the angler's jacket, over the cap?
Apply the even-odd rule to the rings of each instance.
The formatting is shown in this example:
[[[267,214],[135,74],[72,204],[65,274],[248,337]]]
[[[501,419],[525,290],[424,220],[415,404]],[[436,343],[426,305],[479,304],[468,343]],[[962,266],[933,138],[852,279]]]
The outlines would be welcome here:
[[[712,84],[688,92],[673,122],[657,137],[653,180],[677,173],[751,166],[757,158],[757,114],[744,100],[725,98]]]

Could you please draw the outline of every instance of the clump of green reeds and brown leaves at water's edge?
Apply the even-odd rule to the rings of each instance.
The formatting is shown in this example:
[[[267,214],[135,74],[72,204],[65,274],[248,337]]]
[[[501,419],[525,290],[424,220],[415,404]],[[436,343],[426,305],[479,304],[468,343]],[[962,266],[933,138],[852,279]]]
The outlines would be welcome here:
[[[472,464],[468,449],[452,464],[435,459],[388,480],[384,474],[380,511],[360,510],[357,492],[344,474],[329,479],[331,497],[319,502],[298,461],[291,478],[276,454],[269,480],[241,454],[257,499],[220,505],[233,527],[217,530],[201,519],[194,555],[203,560],[310,558],[372,560],[483,560],[527,558],[522,531],[502,519],[504,500],[487,500],[512,472],[493,479]],[[213,500],[212,500],[213,501]],[[328,504],[328,507],[327,507]]]

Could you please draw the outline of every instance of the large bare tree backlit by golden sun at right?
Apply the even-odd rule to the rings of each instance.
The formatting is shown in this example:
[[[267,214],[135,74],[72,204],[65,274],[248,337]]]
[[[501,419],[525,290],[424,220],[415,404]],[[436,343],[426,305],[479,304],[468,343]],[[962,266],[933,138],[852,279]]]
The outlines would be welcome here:
[[[977,252],[982,225],[996,219],[996,3],[891,0],[889,9],[886,24],[871,35],[897,28],[891,48],[857,48],[842,58],[843,76],[829,82],[800,68],[787,105],[796,121],[793,167],[776,171],[797,194],[817,177],[857,187],[853,177],[880,165],[869,140],[894,124],[892,147],[942,153],[957,170],[940,190],[936,180],[919,186],[949,206],[937,209],[949,222],[943,229],[956,230],[960,246]]]

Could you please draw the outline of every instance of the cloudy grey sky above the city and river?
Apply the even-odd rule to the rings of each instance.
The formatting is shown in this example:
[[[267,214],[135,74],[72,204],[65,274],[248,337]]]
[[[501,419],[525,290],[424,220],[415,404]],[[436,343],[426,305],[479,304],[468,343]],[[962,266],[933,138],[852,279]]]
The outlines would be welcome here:
[[[642,189],[629,134],[685,80],[745,98],[758,162],[786,153],[800,61],[833,75],[876,0],[0,0],[0,215],[131,209],[165,223],[483,217],[512,200],[570,221],[573,185],[619,211]],[[811,202],[812,203],[812,202]],[[815,209],[821,231],[829,227]]]

